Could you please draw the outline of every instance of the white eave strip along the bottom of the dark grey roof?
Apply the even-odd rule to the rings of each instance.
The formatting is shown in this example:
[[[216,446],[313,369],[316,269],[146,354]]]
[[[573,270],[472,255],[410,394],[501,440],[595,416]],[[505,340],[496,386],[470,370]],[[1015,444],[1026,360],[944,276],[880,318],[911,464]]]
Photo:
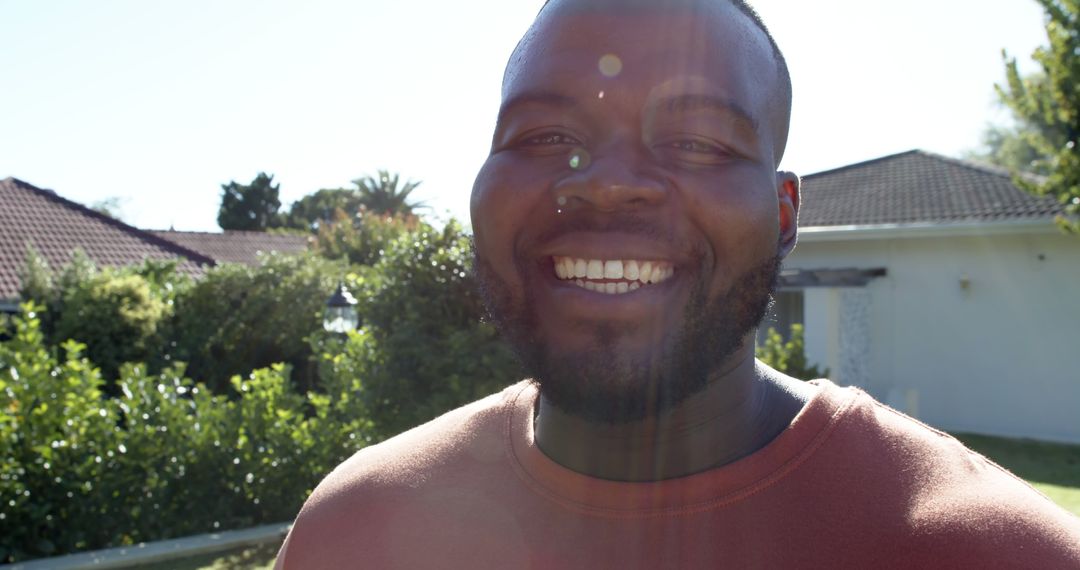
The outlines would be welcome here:
[[[800,242],[886,240],[896,238],[953,238],[1018,233],[1059,233],[1053,218],[973,220],[953,222],[868,223],[853,226],[809,226],[799,228]]]

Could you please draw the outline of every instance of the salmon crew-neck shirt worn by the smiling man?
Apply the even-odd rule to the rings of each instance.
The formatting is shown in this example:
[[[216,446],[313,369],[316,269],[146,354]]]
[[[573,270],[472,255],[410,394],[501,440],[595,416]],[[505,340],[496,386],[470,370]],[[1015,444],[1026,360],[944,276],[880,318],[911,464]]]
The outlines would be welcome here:
[[[947,434],[827,380],[767,446],[656,483],[589,477],[508,388],[361,450],[279,568],[1077,568],[1080,519]]]

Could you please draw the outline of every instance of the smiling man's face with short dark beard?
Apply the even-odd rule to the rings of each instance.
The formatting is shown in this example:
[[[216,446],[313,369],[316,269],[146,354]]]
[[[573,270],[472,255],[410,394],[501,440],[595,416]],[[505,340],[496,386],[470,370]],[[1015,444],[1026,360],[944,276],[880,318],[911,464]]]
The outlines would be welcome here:
[[[797,182],[775,173],[786,110],[748,18],[570,3],[508,67],[473,188],[476,269],[544,396],[627,421],[753,350]]]

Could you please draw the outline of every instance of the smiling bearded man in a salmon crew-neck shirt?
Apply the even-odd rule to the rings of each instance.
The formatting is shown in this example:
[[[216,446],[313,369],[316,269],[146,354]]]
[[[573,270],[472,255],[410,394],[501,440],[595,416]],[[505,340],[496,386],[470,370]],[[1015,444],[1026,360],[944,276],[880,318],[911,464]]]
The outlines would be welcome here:
[[[535,381],[332,473],[280,568],[1080,568],[1080,521],[853,389],[756,363],[798,178],[734,0],[552,0],[511,56],[476,273]]]

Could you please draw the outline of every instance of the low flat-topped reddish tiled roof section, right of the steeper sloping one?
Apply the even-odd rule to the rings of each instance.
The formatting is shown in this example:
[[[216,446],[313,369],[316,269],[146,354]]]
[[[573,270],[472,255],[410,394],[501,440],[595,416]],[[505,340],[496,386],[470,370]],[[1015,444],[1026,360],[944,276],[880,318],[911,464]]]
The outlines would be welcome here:
[[[185,232],[151,231],[158,238],[168,240],[189,249],[213,258],[218,262],[258,264],[258,254],[299,254],[308,249],[307,235],[278,234],[251,231]]]

